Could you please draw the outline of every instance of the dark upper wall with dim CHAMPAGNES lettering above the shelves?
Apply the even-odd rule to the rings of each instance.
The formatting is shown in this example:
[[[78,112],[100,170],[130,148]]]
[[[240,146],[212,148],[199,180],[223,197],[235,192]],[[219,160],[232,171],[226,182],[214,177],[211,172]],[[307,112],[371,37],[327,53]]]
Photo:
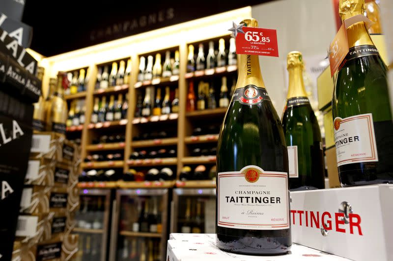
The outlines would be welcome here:
[[[31,48],[52,56],[267,1],[26,0],[23,22]]]

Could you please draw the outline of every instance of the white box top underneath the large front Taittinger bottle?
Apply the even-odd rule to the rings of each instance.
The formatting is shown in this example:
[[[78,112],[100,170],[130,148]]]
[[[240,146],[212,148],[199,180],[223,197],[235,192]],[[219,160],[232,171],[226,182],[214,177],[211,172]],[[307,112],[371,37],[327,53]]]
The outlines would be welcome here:
[[[306,246],[293,244],[291,253],[280,256],[247,256],[228,253],[217,248],[215,234],[171,234],[168,240],[167,261],[345,261]],[[213,243],[214,242],[214,243]]]

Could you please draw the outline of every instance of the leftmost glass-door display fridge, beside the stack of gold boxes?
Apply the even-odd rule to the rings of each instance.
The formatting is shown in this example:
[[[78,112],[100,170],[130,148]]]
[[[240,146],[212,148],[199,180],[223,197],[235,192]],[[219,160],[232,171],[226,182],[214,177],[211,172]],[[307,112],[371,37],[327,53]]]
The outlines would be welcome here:
[[[75,215],[79,234],[77,261],[106,261],[111,190],[81,189],[81,206]]]

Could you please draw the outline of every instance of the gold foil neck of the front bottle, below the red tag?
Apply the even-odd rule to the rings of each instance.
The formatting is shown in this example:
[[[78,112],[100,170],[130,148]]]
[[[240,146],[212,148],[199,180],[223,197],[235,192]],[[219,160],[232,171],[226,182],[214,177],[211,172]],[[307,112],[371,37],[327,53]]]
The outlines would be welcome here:
[[[240,55],[239,72],[236,88],[243,88],[249,84],[265,88],[258,55]]]

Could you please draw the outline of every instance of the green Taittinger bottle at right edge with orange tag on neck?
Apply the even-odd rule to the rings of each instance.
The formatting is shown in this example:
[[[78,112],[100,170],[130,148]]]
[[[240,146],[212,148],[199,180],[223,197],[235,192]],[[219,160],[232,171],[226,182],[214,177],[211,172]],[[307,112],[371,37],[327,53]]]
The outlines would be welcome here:
[[[342,20],[362,14],[364,0],[339,1]],[[347,28],[349,53],[338,71],[332,111],[343,187],[393,183],[393,121],[387,68],[364,22]]]

